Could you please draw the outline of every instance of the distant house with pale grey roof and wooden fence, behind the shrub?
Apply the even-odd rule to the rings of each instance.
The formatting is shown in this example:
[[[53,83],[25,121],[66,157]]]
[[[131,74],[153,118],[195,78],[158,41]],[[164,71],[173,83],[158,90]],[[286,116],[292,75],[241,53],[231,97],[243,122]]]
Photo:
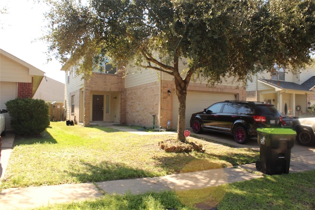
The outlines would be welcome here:
[[[42,99],[49,105],[49,116],[51,121],[64,120],[64,84],[44,77],[33,98]]]

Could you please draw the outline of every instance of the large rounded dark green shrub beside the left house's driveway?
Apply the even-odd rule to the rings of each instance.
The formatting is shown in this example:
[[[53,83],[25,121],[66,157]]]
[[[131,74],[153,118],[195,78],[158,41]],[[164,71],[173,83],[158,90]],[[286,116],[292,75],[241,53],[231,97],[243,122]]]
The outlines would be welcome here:
[[[5,105],[17,135],[38,135],[49,126],[49,107],[44,100],[17,98]]]

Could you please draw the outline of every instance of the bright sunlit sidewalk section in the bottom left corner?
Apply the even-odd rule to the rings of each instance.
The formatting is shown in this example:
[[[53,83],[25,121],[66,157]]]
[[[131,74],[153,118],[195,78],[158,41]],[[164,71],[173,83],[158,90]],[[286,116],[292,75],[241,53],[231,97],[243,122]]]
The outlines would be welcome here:
[[[3,189],[1,210],[21,210],[49,204],[100,198],[103,194],[93,183]]]

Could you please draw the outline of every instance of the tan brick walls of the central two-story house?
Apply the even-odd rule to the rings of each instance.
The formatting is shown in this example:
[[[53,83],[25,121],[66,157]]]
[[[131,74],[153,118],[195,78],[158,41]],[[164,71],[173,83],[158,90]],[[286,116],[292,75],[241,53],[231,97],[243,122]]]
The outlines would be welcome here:
[[[145,77],[141,78],[143,81]],[[93,121],[93,95],[104,95],[105,122],[116,122],[126,125],[138,125],[144,127],[172,128],[174,114],[173,108],[176,107],[176,91],[174,81],[171,80],[151,80],[148,83],[139,83],[142,85],[129,85],[125,87],[124,72],[118,75],[94,73],[89,81],[80,85],[80,89],[73,89],[68,92],[68,104],[71,107],[71,95],[75,95],[74,113],[70,113],[70,120],[76,120],[88,126]],[[137,83],[138,84],[138,83]],[[78,86],[79,87],[79,86]],[[168,93],[168,90],[170,93]],[[246,100],[246,91],[241,87],[218,85],[209,87],[206,84],[191,82],[188,91],[204,93],[228,93],[238,96],[235,99]],[[109,98],[105,99],[106,96]],[[108,100],[109,99],[109,100]],[[109,106],[108,106],[109,105]],[[105,113],[105,107],[109,113]],[[81,109],[81,111],[80,111]],[[177,112],[177,111],[175,111]],[[81,116],[80,116],[81,115]],[[67,117],[66,116],[66,117]],[[154,117],[155,116],[155,121]],[[67,119],[68,120],[68,119]],[[167,126],[168,120],[171,120],[171,126]]]

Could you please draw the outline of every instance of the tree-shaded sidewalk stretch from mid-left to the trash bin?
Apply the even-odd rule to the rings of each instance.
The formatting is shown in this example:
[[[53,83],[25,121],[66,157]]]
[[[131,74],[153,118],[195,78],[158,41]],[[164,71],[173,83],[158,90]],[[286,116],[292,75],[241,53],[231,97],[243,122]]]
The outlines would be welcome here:
[[[248,166],[243,167],[253,169],[254,165],[248,164]],[[242,168],[220,168],[172,174],[164,177],[103,181],[97,182],[96,185],[109,194],[125,194],[127,192],[141,194],[149,191],[202,189],[261,177],[263,177],[261,172],[252,173],[252,171],[246,171]]]

